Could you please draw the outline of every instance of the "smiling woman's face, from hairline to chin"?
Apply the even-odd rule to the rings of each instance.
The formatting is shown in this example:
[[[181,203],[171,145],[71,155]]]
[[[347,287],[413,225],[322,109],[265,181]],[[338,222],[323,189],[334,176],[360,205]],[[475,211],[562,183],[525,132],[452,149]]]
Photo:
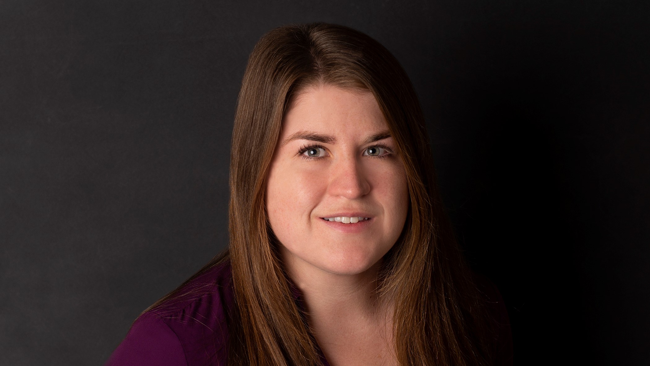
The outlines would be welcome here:
[[[266,185],[285,262],[364,272],[400,236],[408,201],[402,160],[370,92],[325,85],[291,101]]]

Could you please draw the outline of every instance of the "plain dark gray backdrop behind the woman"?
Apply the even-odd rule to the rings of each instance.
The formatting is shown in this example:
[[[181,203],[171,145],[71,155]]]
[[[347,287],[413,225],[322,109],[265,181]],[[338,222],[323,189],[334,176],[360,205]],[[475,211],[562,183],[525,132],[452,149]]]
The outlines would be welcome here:
[[[409,73],[516,363],[647,365],[650,6],[566,0],[2,1],[0,364],[100,365],[224,248],[248,53],[317,20]]]

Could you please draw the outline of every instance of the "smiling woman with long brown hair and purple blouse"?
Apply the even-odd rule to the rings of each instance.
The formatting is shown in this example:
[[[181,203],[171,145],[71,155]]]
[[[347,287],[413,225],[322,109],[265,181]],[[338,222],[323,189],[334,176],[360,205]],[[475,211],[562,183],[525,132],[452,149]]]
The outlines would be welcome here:
[[[369,36],[265,34],[239,94],[229,250],[149,307],[108,365],[505,365],[498,291],[443,207],[417,96]]]

